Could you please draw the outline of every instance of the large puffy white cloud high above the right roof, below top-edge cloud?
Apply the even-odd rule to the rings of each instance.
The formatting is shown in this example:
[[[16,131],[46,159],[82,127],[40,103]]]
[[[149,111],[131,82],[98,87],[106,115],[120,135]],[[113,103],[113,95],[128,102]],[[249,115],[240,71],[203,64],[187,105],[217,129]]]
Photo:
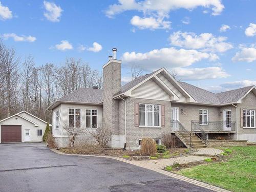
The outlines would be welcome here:
[[[191,32],[174,32],[169,36],[170,44],[187,49],[201,49],[210,52],[225,52],[232,49],[229,42],[225,42],[227,37],[215,37],[211,33],[201,33],[197,35]]]

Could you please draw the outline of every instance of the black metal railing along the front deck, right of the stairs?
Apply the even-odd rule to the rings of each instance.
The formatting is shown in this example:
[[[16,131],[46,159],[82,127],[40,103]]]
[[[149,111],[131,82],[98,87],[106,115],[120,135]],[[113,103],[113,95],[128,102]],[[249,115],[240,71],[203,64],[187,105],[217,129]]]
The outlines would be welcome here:
[[[192,121],[192,132],[198,129],[198,126],[205,132],[231,132],[236,131],[235,121],[207,121],[207,124],[201,124],[200,121]]]

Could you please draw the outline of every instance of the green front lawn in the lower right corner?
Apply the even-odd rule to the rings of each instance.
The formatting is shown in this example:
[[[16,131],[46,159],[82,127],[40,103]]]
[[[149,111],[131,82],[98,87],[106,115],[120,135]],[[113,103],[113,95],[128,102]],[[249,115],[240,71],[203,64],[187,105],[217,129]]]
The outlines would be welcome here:
[[[178,173],[231,191],[256,191],[256,146],[230,150],[232,155],[227,161],[185,168]]]

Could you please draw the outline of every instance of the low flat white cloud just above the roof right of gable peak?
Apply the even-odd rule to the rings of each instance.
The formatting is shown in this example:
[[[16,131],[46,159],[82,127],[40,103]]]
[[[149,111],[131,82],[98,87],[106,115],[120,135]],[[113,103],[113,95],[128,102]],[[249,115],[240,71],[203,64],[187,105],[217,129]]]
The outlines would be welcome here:
[[[176,68],[175,71],[177,72],[178,78],[182,80],[216,79],[230,76],[221,67]]]

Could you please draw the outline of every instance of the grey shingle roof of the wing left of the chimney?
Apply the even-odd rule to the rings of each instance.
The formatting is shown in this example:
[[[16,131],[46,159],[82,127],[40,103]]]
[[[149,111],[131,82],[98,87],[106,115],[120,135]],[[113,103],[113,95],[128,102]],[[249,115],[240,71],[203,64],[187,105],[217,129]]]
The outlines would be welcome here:
[[[71,94],[57,99],[57,101],[99,104],[103,102],[103,90],[80,88]]]

